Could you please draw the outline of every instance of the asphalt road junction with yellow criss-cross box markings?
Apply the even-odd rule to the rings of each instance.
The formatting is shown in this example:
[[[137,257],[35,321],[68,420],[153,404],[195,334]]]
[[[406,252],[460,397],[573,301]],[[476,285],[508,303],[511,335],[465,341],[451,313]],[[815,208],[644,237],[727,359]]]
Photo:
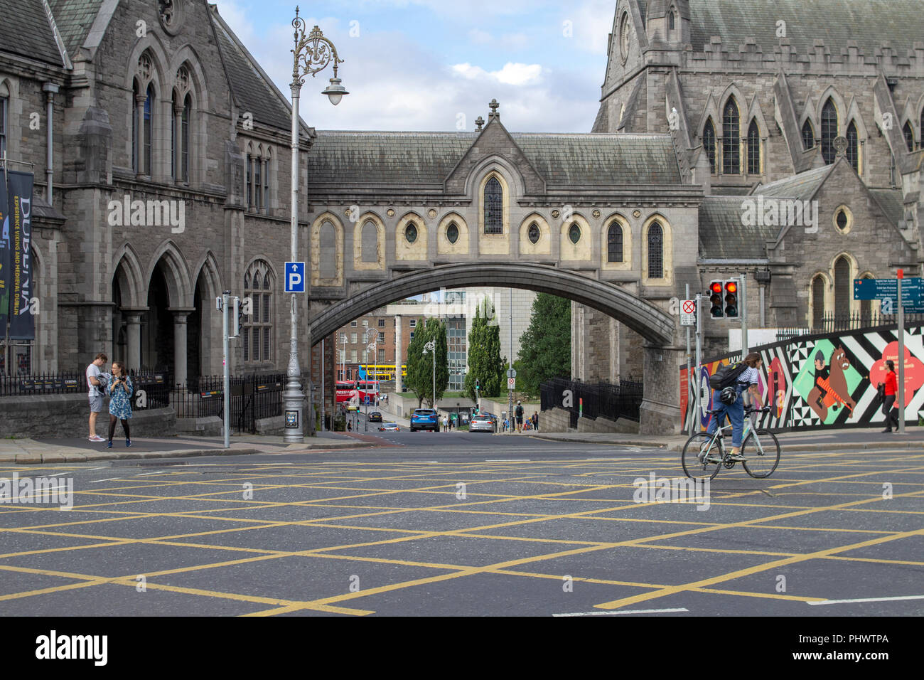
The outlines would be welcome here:
[[[924,613],[924,453],[784,450],[664,502],[633,483],[683,476],[676,453],[381,434],[0,466],[73,485],[68,511],[0,503],[0,615]]]

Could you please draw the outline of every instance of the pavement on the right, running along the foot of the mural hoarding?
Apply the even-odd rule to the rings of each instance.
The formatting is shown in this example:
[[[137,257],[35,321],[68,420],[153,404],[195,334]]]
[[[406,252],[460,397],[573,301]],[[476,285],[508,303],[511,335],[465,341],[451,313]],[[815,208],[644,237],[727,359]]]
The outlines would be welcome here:
[[[774,432],[780,446],[791,451],[924,451],[924,427],[906,427],[906,434],[883,434],[878,427]],[[658,447],[682,451],[688,435],[633,435],[601,432],[525,432],[522,435],[583,444]]]

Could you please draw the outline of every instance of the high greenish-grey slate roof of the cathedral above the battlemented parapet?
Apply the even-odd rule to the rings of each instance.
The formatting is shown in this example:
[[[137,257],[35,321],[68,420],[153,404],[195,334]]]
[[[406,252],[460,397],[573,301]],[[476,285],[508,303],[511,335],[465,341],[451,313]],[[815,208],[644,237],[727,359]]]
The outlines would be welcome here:
[[[786,22],[786,37],[798,54],[812,50],[815,40],[840,55],[847,41],[856,41],[865,56],[889,42],[900,56],[924,35],[921,0],[689,0],[693,50],[701,52],[713,35],[723,47],[737,51],[749,37],[764,52],[779,44],[776,21]]]

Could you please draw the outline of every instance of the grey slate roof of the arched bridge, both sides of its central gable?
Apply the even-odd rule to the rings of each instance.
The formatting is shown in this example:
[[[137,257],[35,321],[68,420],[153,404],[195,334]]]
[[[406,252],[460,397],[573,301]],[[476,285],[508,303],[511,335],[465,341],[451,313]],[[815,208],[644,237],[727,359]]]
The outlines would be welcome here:
[[[319,130],[308,155],[310,183],[438,184],[478,132],[345,132]],[[550,184],[680,184],[667,135],[510,135]]]

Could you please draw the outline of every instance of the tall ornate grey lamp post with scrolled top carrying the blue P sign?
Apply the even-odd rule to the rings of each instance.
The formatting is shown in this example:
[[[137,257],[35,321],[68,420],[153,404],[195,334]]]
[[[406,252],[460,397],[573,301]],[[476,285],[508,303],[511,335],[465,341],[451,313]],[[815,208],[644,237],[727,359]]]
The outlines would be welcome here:
[[[323,36],[321,30],[315,26],[309,33],[305,32],[305,19],[298,16],[298,6],[295,8],[295,19],[292,19],[292,28],[295,29],[295,49],[291,50],[292,62],[292,223],[291,248],[292,262],[298,262],[298,95],[301,86],[305,84],[305,76],[314,77],[318,71],[326,68],[331,61],[334,62],[334,78],[331,84],[323,91],[331,100],[331,104],[340,104],[340,99],[346,90],[337,78],[337,64],[343,61],[337,56],[334,43]],[[304,410],[305,393],[301,387],[301,369],[298,367],[298,302],[297,293],[292,293],[289,307],[289,363],[286,370],[286,391],[283,392],[283,406],[286,411],[286,430],[283,440],[289,443],[301,444],[305,440]],[[310,348],[309,341],[309,348]],[[310,393],[309,393],[310,394]],[[312,411],[313,413],[313,411]]]

